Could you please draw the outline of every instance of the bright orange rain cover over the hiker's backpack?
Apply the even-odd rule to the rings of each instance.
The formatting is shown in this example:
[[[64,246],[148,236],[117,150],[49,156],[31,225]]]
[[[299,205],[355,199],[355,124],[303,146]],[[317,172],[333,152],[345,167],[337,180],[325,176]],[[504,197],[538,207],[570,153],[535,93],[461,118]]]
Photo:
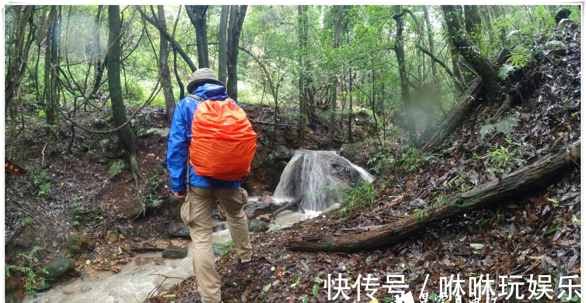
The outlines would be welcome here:
[[[237,181],[250,172],[257,135],[231,99],[197,105],[191,127],[190,164],[197,175]]]

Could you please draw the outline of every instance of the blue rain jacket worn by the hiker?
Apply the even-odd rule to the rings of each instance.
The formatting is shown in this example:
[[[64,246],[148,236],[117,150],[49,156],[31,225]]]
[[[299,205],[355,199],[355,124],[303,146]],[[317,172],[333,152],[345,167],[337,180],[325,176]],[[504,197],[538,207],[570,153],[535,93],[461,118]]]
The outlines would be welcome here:
[[[196,88],[193,93],[204,100],[222,101],[228,98],[226,87],[214,84],[204,84]],[[189,145],[191,144],[191,125],[193,113],[202,100],[187,96],[175,105],[175,113],[171,121],[169,141],[167,149],[167,168],[171,173],[171,188],[173,192],[180,192],[186,189],[186,168]],[[239,104],[234,102],[240,107]],[[223,181],[197,175],[193,166],[189,165],[189,184],[202,188],[209,188],[211,179],[214,188],[231,189],[240,186],[240,181]]]

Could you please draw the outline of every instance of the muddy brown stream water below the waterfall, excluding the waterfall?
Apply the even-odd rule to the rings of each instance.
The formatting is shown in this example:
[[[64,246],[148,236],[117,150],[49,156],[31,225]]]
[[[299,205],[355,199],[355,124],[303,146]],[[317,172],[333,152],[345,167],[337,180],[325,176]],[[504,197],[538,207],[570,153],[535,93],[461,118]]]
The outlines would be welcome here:
[[[249,203],[257,200],[251,197]],[[277,201],[278,202],[278,201]],[[279,229],[318,215],[318,212],[305,214],[285,210],[275,217],[270,229]],[[230,240],[229,230],[214,233],[214,243],[225,244]],[[193,273],[192,249],[188,244],[188,256],[183,259],[162,258],[161,253],[143,253],[122,266],[120,273],[104,272],[92,277],[72,278],[56,284],[50,290],[27,296],[24,303],[136,303],[142,302],[149,294],[158,294],[174,284],[182,282]],[[165,278],[179,277],[179,278]]]

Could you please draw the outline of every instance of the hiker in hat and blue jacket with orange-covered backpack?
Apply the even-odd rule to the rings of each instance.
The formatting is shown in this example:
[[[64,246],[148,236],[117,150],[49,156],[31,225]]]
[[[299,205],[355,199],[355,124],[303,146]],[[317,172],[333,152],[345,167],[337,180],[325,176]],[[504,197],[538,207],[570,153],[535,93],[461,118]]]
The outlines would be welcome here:
[[[181,218],[193,241],[199,301],[218,303],[222,296],[212,247],[213,198],[226,212],[240,262],[250,263],[252,247],[243,211],[248,194],[240,188],[240,179],[250,171],[256,134],[213,70],[196,70],[187,91],[190,95],[177,103],[171,121],[167,167],[173,194],[184,202]]]

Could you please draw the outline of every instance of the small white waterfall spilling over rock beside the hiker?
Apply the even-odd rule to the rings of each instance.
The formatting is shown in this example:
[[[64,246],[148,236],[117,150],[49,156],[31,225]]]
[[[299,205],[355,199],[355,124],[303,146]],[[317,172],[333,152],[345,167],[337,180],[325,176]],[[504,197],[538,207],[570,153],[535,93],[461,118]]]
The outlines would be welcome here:
[[[303,196],[304,209],[322,211],[333,203],[341,203],[340,185],[349,180],[374,180],[363,168],[333,151],[300,149],[294,154],[281,174],[274,198],[291,200]]]

